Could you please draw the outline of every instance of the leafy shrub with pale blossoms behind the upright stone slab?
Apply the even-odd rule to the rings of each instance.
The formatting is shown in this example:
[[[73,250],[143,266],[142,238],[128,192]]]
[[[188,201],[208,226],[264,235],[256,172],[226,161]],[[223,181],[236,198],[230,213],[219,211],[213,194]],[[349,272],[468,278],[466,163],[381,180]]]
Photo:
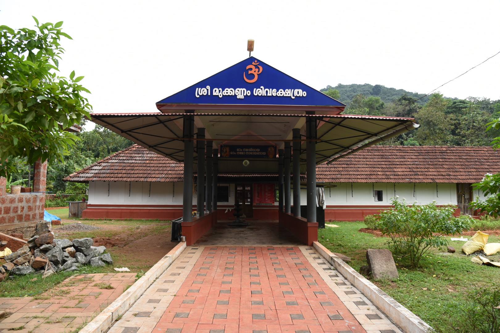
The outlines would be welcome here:
[[[456,206],[437,207],[435,201],[427,205],[408,205],[404,199],[392,199],[394,209],[380,213],[376,228],[390,237],[389,248],[394,254],[409,260],[410,266],[418,266],[422,256],[432,247],[448,245],[444,235],[459,234],[470,227],[471,218],[455,218]]]

